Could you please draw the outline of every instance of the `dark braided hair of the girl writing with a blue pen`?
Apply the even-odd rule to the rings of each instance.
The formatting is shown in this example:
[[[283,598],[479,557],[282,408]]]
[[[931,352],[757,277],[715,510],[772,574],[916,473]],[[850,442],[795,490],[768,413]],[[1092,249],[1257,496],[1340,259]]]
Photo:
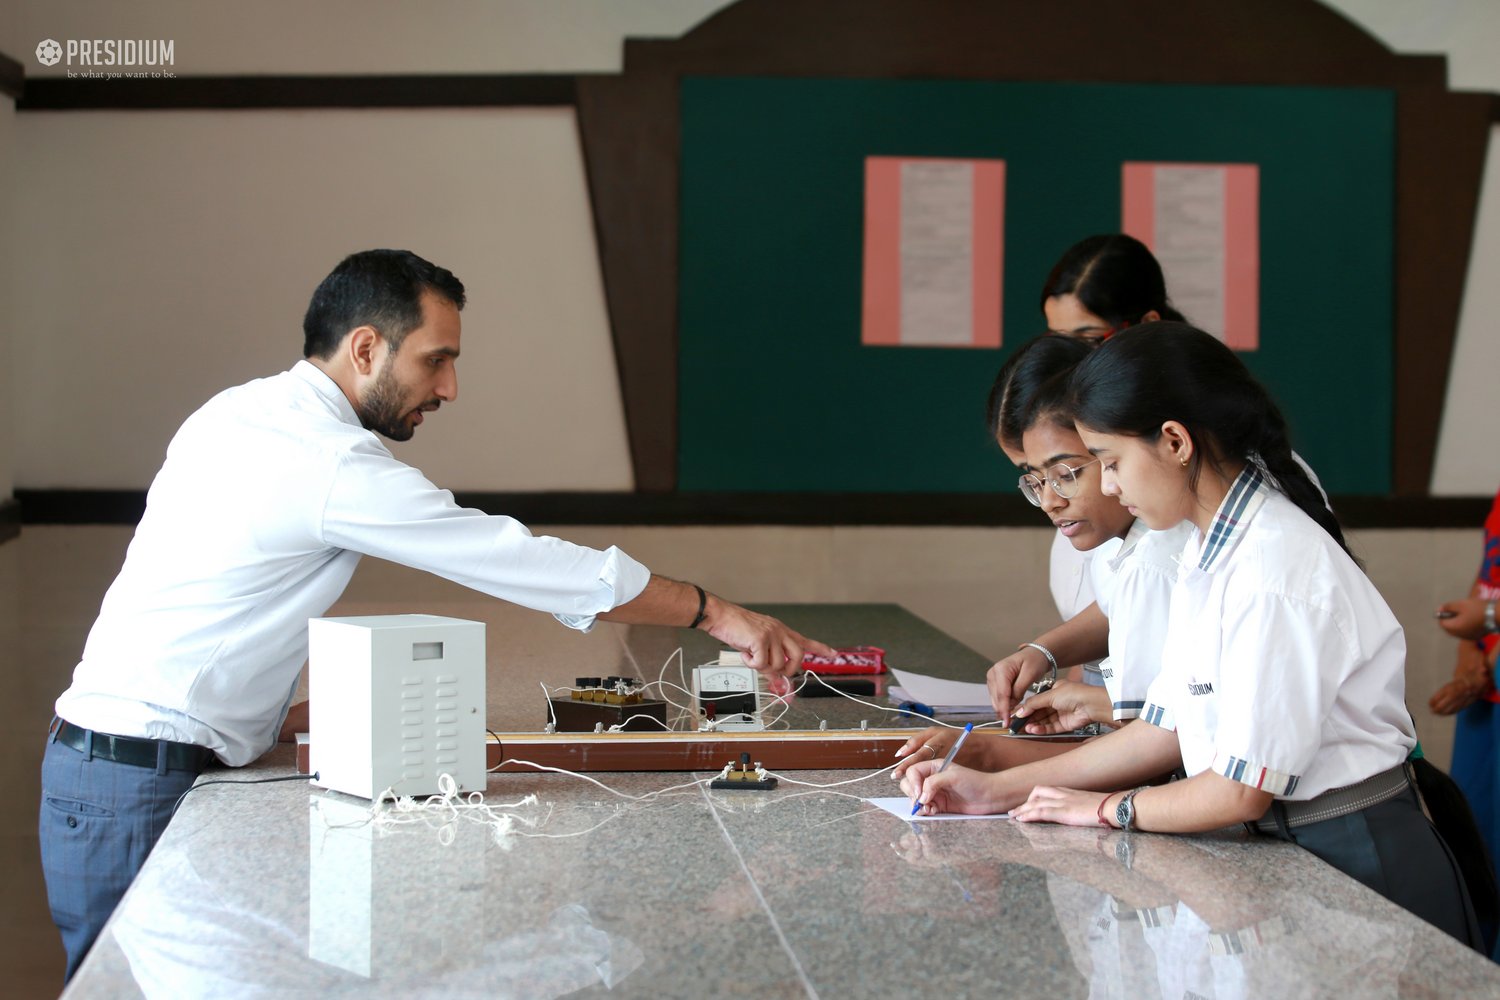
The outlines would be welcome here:
[[[1281,409],[1245,363],[1202,330],[1146,322],[1106,340],[1072,373],[1071,411],[1084,427],[1152,442],[1176,420],[1197,442],[1188,489],[1197,489],[1204,462],[1220,475],[1227,462],[1257,462],[1348,553],[1322,492],[1292,457]]]

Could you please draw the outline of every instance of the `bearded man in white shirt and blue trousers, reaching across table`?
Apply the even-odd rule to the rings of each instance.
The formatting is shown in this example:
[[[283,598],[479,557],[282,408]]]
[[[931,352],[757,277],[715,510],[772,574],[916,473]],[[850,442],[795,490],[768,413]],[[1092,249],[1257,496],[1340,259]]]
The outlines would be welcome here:
[[[42,862],[69,978],[202,766],[276,742],[308,619],[362,555],[570,628],[702,628],[771,673],[798,669],[804,649],[832,654],[620,549],[460,508],[392,456],[376,433],[406,441],[458,397],[464,301],[450,271],[414,253],[351,255],[314,292],[304,360],[219,393],[172,438],[42,765]]]

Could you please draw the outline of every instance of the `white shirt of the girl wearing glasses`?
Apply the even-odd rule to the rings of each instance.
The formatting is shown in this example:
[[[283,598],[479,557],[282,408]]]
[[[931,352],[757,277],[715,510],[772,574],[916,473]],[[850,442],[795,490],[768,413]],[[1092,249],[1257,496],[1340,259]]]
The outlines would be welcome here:
[[[1100,676],[1119,721],[1142,714],[1146,691],[1161,673],[1178,559],[1191,531],[1186,522],[1150,531],[1137,517],[1119,550],[1092,564],[1100,610],[1110,619],[1110,655],[1100,663]]]

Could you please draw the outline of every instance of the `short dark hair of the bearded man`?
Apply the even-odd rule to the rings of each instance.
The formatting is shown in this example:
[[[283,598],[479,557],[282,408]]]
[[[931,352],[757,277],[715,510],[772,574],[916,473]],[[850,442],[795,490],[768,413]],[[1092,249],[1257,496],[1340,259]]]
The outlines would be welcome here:
[[[392,351],[422,325],[422,292],[464,309],[464,282],[411,250],[351,253],[322,279],[302,321],[302,355],[328,358],[356,327],[375,327]]]

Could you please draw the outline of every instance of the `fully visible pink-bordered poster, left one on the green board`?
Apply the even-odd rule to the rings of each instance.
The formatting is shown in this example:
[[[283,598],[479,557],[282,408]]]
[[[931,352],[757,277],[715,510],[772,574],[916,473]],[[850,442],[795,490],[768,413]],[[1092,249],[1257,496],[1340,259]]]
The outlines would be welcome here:
[[[864,322],[873,346],[1000,346],[1005,160],[872,156]]]

